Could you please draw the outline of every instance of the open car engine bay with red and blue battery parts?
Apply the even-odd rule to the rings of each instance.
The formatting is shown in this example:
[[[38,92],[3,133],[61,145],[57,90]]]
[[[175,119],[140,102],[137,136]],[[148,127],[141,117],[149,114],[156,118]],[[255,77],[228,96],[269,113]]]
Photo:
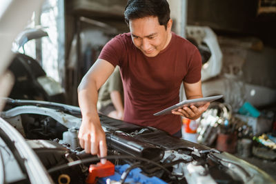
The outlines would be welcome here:
[[[86,154],[79,147],[81,112],[70,105],[10,99],[1,117],[20,132],[54,183],[270,181],[253,165],[226,152],[170,136],[153,127],[140,127],[99,114],[108,146],[105,159],[110,167],[101,165],[98,156]],[[4,134],[1,132],[1,137]],[[8,162],[18,161],[22,156],[13,151],[12,141],[5,142],[6,146],[1,144],[1,154],[10,152],[3,165],[14,168],[16,163]],[[106,176],[111,167],[112,175]],[[91,177],[94,179],[90,180]],[[17,183],[28,183],[28,177],[19,177]]]

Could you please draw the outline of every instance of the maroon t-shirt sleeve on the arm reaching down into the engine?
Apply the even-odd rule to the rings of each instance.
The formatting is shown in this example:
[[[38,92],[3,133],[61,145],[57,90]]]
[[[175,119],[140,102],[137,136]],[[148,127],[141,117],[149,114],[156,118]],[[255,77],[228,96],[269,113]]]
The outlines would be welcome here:
[[[122,52],[123,44],[121,43],[120,36],[117,36],[104,45],[99,54],[99,59],[104,59],[116,67],[116,65],[119,65],[121,57],[123,56]]]

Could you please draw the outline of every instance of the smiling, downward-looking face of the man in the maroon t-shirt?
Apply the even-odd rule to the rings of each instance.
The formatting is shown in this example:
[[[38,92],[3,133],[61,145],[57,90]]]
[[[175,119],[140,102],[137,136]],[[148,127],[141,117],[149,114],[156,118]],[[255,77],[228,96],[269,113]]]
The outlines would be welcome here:
[[[144,17],[129,21],[132,41],[147,57],[155,57],[170,42],[172,21],[167,29],[160,25],[158,17]]]

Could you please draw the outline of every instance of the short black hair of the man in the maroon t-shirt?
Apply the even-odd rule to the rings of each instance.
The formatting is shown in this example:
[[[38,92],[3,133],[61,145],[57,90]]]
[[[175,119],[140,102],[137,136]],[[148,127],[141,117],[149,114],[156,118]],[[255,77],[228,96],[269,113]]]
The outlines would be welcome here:
[[[128,0],[125,9],[125,21],[129,25],[131,19],[144,17],[158,17],[160,25],[165,25],[170,20],[170,7],[166,0]]]

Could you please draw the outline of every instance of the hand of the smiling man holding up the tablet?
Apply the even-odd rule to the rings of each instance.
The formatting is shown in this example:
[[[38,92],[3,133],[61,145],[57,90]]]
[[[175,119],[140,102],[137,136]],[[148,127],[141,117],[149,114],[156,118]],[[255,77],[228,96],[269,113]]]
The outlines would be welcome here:
[[[172,114],[177,114],[186,117],[187,119],[198,119],[201,114],[207,110],[210,102],[205,105],[200,106],[199,108],[195,107],[195,105],[190,105],[190,107],[180,108],[177,111],[172,111]]]

